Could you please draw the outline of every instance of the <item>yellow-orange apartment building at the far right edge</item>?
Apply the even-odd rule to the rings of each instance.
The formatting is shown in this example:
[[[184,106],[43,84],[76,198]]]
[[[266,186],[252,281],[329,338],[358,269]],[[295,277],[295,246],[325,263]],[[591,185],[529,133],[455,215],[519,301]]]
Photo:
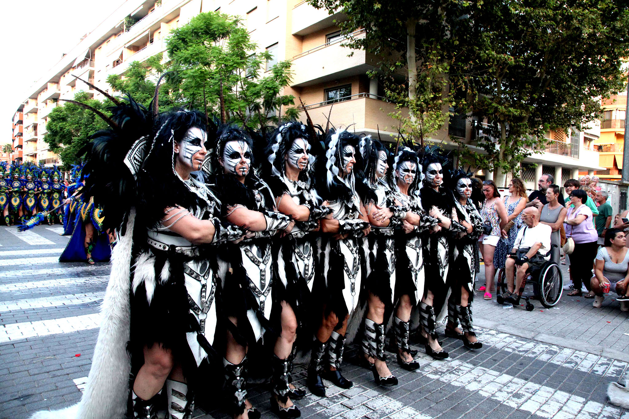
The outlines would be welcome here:
[[[604,170],[596,171],[596,176],[604,180],[620,180],[622,177],[626,104],[626,90],[601,102],[604,110],[601,138],[594,141],[594,146],[599,152],[599,164],[604,167]]]

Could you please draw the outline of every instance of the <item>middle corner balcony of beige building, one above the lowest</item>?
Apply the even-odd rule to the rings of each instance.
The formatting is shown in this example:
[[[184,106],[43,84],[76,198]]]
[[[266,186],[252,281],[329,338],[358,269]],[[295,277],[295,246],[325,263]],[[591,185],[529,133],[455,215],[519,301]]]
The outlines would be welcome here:
[[[365,36],[365,30],[350,34],[357,38]],[[341,46],[345,38],[325,43],[292,58],[294,80],[292,87],[303,87],[341,79],[351,75],[365,74],[376,68],[376,59],[364,50],[351,50]],[[352,57],[348,54],[352,53]]]

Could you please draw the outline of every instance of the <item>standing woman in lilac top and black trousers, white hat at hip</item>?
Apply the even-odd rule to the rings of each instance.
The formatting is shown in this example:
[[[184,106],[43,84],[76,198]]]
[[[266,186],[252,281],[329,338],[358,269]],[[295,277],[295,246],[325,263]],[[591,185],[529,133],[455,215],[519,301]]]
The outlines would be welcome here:
[[[564,229],[565,237],[572,237],[574,240],[574,251],[568,255],[574,290],[568,295],[575,297],[581,295],[582,284],[586,285],[587,290],[590,288],[589,279],[598,248],[598,234],[594,228],[592,210],[584,205],[587,202],[587,193],[580,189],[573,190],[570,193],[570,202],[574,204],[574,208],[569,208],[565,215]]]

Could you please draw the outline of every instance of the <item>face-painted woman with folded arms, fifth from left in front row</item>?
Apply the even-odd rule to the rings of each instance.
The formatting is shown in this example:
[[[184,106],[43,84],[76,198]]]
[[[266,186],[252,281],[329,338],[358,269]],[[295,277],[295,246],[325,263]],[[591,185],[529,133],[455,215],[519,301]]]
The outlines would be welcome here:
[[[396,205],[386,182],[388,152],[380,141],[365,136],[360,139],[366,188],[361,198],[367,203],[367,217],[372,231],[367,236],[365,250],[365,285],[367,315],[365,315],[362,351],[366,367],[381,386],[395,386],[398,379],[391,374],[384,354],[384,319],[393,308],[396,284],[394,227],[401,226],[406,211]]]

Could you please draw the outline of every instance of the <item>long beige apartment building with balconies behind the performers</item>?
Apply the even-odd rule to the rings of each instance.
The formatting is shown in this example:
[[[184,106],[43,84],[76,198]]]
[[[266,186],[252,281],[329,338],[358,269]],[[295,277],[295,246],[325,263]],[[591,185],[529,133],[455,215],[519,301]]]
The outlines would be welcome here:
[[[356,133],[379,135],[384,140],[396,137],[399,121],[388,116],[394,105],[383,100],[377,78],[369,79],[365,74],[376,68],[376,57],[364,51],[353,51],[348,57],[352,51],[342,46],[337,26],[342,14],[330,15],[299,0],[128,0],[84,36],[27,94],[20,106],[28,121],[25,141],[28,138],[26,143],[33,146],[25,146],[26,156],[48,164],[57,161],[42,139],[48,114],[60,105],[58,99],[70,99],[79,90],[103,99],[74,75],[108,91],[108,75],[124,75],[129,63],[165,52],[164,39],[172,28],[200,12],[215,10],[240,16],[259,50],[272,53],[274,60],[264,70],[268,71],[276,60],[292,60],[294,76],[284,94],[301,98],[315,124],[325,126],[331,109],[330,122],[337,128],[351,125]],[[364,32],[359,30],[353,35],[364,36]],[[305,118],[302,111],[301,119]],[[453,117],[430,138],[445,148],[456,148],[450,140],[455,136],[482,152],[476,146],[482,131],[482,122],[462,115]],[[548,135],[552,145],[525,161],[523,173],[530,187],[535,187],[543,173],[552,173],[560,180],[574,177],[579,169],[603,170],[598,165],[598,153],[591,148],[591,140],[598,134]],[[537,168],[528,166],[531,163],[537,163]],[[491,172],[477,174],[493,178]],[[498,181],[506,184],[506,180]]]

